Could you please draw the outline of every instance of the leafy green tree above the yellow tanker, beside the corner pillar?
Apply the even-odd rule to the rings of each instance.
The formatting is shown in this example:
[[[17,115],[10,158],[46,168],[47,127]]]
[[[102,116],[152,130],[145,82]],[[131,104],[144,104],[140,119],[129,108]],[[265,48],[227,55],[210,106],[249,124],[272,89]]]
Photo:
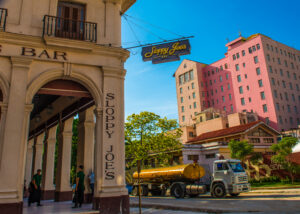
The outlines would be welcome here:
[[[127,117],[125,148],[128,166],[135,166],[155,155],[161,163],[168,160],[172,151],[180,149],[181,130],[176,120],[161,118],[152,112],[141,112]]]

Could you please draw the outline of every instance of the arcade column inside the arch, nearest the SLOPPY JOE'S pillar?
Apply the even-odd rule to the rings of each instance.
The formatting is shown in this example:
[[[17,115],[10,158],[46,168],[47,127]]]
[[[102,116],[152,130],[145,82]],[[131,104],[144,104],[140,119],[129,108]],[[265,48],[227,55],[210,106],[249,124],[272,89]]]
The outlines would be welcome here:
[[[84,201],[92,202],[92,191],[89,186],[88,176],[94,171],[94,142],[95,142],[95,118],[94,106],[79,113],[78,144],[77,144],[77,166],[84,166],[85,194]]]

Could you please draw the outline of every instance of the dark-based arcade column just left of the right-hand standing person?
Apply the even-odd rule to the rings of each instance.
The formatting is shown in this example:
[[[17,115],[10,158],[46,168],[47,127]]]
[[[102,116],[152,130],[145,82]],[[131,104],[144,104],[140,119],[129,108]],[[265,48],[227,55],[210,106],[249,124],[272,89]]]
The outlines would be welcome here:
[[[73,119],[74,118],[70,118],[66,120],[64,124],[62,124],[62,129],[60,129],[60,133],[59,133],[55,201],[72,200],[70,168],[71,168]]]

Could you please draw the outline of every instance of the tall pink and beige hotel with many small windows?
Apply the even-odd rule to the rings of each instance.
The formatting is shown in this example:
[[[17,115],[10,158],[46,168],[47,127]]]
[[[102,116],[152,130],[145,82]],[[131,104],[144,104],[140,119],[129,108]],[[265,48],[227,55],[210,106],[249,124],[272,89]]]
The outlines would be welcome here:
[[[226,44],[225,57],[210,65],[183,60],[176,70],[181,126],[213,107],[226,114],[256,112],[282,131],[300,124],[300,51],[262,34]]]

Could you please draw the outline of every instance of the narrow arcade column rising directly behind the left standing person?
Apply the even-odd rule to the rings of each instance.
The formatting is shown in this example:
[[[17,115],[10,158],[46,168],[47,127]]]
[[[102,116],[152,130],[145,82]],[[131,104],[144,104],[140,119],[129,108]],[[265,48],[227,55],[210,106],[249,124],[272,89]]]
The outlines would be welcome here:
[[[32,175],[36,174],[38,169],[42,169],[44,138],[45,133],[40,134],[36,138],[36,142],[34,145],[34,162]]]

